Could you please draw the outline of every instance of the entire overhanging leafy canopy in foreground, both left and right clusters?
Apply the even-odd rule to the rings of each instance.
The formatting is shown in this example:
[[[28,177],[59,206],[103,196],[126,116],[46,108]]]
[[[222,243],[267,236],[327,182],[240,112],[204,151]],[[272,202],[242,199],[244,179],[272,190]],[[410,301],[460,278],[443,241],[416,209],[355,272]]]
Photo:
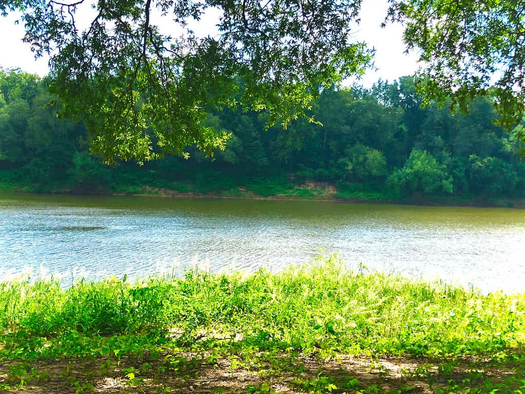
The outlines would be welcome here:
[[[22,12],[26,42],[49,54],[51,92],[61,115],[83,120],[107,161],[162,152],[208,154],[229,134],[202,122],[209,109],[266,110],[269,126],[305,116],[324,87],[359,74],[371,52],[350,39],[361,0],[0,0]],[[388,0],[388,20],[405,26],[407,50],[424,65],[422,103],[467,111],[475,96],[495,100],[512,130],[525,110],[522,0]],[[89,7],[93,9],[90,10]],[[86,26],[79,14],[93,14]],[[206,12],[218,34],[203,37]],[[163,34],[159,16],[182,32]],[[525,141],[525,132],[514,136]]]

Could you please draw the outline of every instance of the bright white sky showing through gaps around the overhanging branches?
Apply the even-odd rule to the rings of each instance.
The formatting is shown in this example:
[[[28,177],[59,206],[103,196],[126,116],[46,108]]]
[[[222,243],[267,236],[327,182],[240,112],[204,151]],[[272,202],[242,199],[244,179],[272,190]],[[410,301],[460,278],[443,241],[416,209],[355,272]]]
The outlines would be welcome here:
[[[353,38],[356,41],[364,41],[369,48],[375,49],[374,63],[375,68],[369,69],[366,74],[358,81],[360,85],[366,87],[372,86],[378,79],[395,80],[403,75],[413,74],[417,68],[417,55],[410,53],[404,54],[405,46],[403,44],[403,28],[401,25],[388,24],[381,28],[381,23],[386,15],[388,8],[387,0],[363,0],[361,6],[361,23],[354,29]],[[76,18],[82,23],[86,23],[92,16],[89,8],[82,9]],[[15,20],[19,17],[16,14],[10,14],[5,18],[0,17],[0,67],[20,68],[23,71],[31,72],[44,76],[47,74],[47,58],[35,60],[30,50],[29,44],[22,42],[24,36],[23,23],[16,25]],[[205,15],[198,25],[195,25],[195,32],[198,27],[206,26],[208,34],[213,32],[214,15]],[[153,20],[153,23],[155,21]],[[163,33],[171,33],[172,36],[177,34],[171,29],[166,19],[159,18],[159,26]],[[354,80],[345,81],[345,85],[351,84]]]

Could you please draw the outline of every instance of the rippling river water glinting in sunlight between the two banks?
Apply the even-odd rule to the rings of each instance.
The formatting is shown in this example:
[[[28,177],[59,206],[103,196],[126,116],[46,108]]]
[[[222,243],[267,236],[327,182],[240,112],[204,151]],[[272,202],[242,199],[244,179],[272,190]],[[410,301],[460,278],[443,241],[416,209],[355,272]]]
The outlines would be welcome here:
[[[279,269],[322,248],[369,269],[525,290],[524,210],[2,193],[0,226],[4,279],[145,276],[195,256],[212,272]]]

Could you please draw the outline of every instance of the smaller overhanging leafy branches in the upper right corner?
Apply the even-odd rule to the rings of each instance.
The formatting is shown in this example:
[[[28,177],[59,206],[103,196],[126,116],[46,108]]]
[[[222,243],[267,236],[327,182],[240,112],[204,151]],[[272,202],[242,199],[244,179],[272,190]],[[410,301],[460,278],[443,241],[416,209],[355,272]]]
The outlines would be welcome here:
[[[405,24],[407,50],[421,51],[425,66],[419,72],[418,92],[425,103],[451,99],[451,108],[466,111],[472,98],[491,92],[501,125],[511,130],[521,121],[523,0],[389,1],[388,17]]]

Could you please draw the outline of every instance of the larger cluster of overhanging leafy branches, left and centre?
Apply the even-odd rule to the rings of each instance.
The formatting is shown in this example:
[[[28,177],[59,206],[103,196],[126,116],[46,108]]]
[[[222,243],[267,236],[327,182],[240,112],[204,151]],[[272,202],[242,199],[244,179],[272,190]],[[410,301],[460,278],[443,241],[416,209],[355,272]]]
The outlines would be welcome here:
[[[349,40],[361,0],[97,0],[86,28],[86,0],[0,0],[20,11],[25,41],[50,57],[48,85],[61,115],[83,120],[106,161],[148,160],[162,152],[208,154],[227,135],[203,126],[211,108],[267,110],[271,126],[304,116],[325,86],[363,72],[364,44]],[[217,36],[188,22],[218,10]],[[160,32],[153,14],[184,30]],[[172,22],[172,23],[173,23]]]

